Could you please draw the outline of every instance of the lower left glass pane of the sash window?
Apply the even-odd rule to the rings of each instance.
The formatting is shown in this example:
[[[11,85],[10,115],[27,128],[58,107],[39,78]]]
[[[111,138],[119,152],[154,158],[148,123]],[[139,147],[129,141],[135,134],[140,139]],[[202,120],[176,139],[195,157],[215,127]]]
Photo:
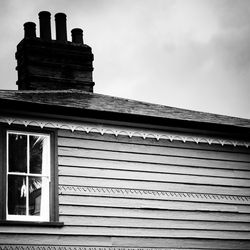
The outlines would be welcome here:
[[[8,214],[26,214],[26,178],[9,175],[8,177]]]

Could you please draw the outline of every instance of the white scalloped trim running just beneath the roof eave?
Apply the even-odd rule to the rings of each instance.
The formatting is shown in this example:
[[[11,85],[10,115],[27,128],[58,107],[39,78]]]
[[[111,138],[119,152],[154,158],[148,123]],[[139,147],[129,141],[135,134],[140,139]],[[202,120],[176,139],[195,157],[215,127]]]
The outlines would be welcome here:
[[[56,128],[56,129],[67,129],[74,131],[83,131],[86,133],[98,133],[101,135],[109,134],[114,136],[128,136],[132,137],[141,137],[143,139],[156,139],[159,140],[168,140],[168,141],[181,141],[193,142],[193,143],[206,143],[206,144],[219,144],[221,146],[231,145],[231,146],[243,146],[248,148],[250,146],[250,141],[241,141],[241,140],[232,140],[232,139],[223,139],[216,137],[206,137],[200,135],[188,135],[181,133],[171,133],[171,132],[162,132],[151,129],[136,129],[136,128],[127,128],[121,126],[109,126],[109,125],[98,125],[93,123],[72,123],[72,122],[58,122],[52,120],[38,120],[38,119],[24,119],[24,118],[15,118],[15,117],[3,117],[0,116],[0,122],[7,123],[9,125],[23,125],[36,126],[43,128]]]

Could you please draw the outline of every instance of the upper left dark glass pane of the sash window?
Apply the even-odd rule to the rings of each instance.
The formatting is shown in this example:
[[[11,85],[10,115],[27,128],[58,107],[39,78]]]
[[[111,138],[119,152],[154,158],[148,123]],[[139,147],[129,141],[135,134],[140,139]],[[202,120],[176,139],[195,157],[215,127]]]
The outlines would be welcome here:
[[[9,134],[9,172],[27,172],[27,136]]]

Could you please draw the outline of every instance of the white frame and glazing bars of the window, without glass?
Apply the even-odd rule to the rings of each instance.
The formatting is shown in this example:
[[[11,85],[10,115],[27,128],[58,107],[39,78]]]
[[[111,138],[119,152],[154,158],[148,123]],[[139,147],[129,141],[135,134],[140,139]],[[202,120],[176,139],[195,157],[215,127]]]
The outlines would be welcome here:
[[[9,134],[17,135],[26,135],[27,136],[27,173],[21,172],[9,172]],[[30,170],[30,155],[29,155],[29,136],[43,136],[45,137],[45,160],[43,164],[41,174],[32,174],[29,173]],[[51,148],[50,148],[51,136],[47,133],[33,133],[26,131],[16,131],[16,130],[7,130],[6,133],[6,161],[7,161],[7,171],[6,171],[6,219],[15,220],[15,221],[50,221],[50,169],[51,169]],[[26,215],[12,215],[8,214],[8,176],[9,175],[18,175],[25,176],[26,183],[28,177],[40,177],[42,178],[42,189],[41,189],[41,207],[40,215],[28,215],[28,202],[29,202],[29,192],[27,192],[26,198]]]

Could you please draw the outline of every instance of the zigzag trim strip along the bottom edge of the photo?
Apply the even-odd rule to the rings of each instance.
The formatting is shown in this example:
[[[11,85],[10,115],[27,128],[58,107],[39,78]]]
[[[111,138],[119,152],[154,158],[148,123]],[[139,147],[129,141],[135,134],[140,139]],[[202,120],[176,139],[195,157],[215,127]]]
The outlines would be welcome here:
[[[0,250],[176,250],[176,248],[0,245]],[[185,249],[183,248],[183,250]]]

